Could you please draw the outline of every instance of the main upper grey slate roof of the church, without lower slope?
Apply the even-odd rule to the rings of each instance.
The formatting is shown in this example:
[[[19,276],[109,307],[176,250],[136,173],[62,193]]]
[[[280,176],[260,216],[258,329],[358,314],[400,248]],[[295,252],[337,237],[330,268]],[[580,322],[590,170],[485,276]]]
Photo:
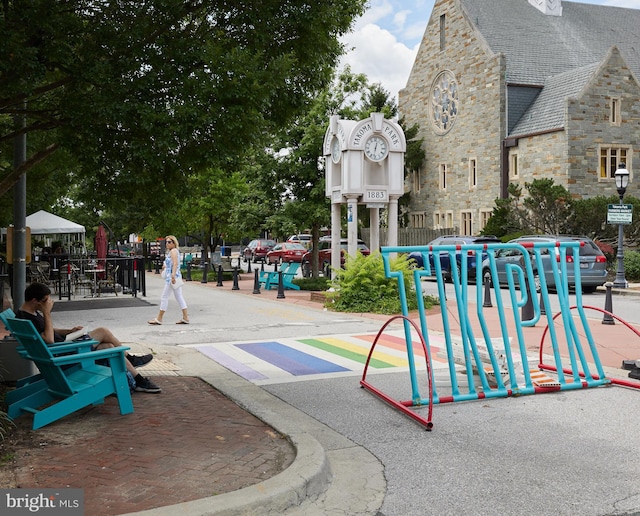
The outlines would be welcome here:
[[[543,85],[548,77],[600,63],[617,46],[640,77],[640,10],[562,2],[562,16],[527,0],[460,0],[492,52],[506,56],[507,83]]]

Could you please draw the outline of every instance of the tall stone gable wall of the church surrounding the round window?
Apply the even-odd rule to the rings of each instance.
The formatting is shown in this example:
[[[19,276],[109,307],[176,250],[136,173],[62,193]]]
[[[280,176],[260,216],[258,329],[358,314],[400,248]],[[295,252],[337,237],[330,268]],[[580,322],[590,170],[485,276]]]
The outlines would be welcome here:
[[[409,210],[425,212],[431,225],[435,212],[453,212],[453,224],[461,228],[460,212],[471,211],[475,234],[480,230],[480,212],[490,211],[500,196],[504,62],[488,51],[457,5],[448,0],[434,7],[407,87],[400,92],[399,108],[408,126],[420,126],[426,153],[420,191],[412,191]],[[444,50],[440,50],[441,15],[446,19]],[[429,94],[442,70],[457,79],[459,111],[453,128],[438,135],[429,122]],[[476,160],[475,187],[469,182],[470,159]],[[445,189],[440,188],[441,164],[448,169]]]

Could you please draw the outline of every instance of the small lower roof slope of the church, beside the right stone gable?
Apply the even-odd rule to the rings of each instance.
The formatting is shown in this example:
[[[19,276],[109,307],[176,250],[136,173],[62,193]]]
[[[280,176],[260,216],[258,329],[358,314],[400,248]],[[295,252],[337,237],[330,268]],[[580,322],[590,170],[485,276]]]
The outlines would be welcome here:
[[[549,77],[536,100],[509,133],[509,137],[562,129],[566,98],[577,97],[599,67],[600,63],[594,63]]]

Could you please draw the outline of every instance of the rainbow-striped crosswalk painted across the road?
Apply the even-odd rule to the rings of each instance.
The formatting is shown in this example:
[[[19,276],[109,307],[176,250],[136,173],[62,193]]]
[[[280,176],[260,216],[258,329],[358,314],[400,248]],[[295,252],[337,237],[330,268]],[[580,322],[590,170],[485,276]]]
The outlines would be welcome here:
[[[243,378],[258,385],[285,383],[327,376],[361,375],[375,333],[283,338],[253,342],[226,342],[194,346]],[[442,336],[430,336],[437,351]],[[434,347],[435,346],[435,347]],[[417,366],[426,368],[420,341],[414,338]],[[382,335],[369,363],[369,373],[408,370],[406,343],[402,330]]]

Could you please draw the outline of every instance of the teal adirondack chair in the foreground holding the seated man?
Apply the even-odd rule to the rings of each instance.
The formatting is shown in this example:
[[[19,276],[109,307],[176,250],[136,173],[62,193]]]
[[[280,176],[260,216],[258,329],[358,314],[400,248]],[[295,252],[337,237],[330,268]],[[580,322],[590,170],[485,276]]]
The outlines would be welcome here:
[[[7,318],[6,324],[25,348],[25,358],[33,360],[46,383],[46,387],[8,404],[7,415],[11,419],[31,413],[36,430],[88,405],[104,403],[111,394],[118,399],[120,414],[133,412],[125,366],[125,351],[129,348],[118,346],[54,356],[31,321]],[[62,344],[56,346],[56,351],[70,351],[74,346],[75,343]],[[97,364],[98,360],[107,360],[109,366]],[[73,367],[64,369],[65,365]]]

